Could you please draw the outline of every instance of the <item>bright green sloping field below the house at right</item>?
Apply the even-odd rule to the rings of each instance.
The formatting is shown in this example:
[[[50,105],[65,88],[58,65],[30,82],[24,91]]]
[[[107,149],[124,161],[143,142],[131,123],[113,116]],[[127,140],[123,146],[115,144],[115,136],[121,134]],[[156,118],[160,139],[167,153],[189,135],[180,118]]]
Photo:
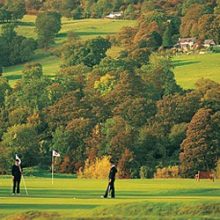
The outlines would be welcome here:
[[[185,89],[194,88],[201,78],[220,82],[220,54],[175,56],[173,64],[177,83]]]

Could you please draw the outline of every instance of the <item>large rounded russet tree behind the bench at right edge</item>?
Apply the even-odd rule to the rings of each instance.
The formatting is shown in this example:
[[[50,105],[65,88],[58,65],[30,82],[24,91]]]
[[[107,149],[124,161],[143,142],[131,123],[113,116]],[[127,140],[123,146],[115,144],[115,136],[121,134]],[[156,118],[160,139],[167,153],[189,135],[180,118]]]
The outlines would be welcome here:
[[[188,126],[180,152],[180,170],[184,177],[193,177],[198,171],[210,171],[216,167],[219,132],[213,126],[212,118],[211,109],[201,108]]]

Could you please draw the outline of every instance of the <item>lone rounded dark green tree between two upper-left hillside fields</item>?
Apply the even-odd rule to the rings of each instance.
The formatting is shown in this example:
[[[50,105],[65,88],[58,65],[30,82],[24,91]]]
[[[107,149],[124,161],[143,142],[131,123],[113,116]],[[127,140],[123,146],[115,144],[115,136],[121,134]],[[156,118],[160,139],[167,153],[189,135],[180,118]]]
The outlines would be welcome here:
[[[47,48],[54,42],[55,35],[61,29],[61,15],[57,12],[41,12],[36,18],[39,47]]]

